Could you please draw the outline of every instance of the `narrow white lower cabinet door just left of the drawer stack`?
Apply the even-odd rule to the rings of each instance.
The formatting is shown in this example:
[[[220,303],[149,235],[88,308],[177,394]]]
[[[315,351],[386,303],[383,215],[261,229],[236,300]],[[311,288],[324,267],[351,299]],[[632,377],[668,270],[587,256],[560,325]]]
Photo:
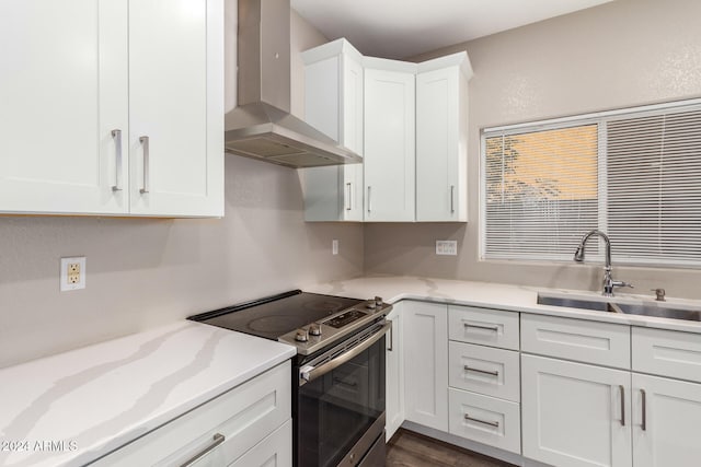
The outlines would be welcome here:
[[[406,420],[448,431],[448,310],[403,304]]]

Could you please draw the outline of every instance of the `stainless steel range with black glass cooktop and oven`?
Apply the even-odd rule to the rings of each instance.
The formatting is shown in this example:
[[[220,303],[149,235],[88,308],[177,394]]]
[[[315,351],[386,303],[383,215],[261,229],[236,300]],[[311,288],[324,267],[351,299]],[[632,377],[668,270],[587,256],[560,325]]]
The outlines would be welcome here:
[[[297,348],[292,359],[294,465],[384,465],[384,335],[391,305],[285,292],[192,316]]]

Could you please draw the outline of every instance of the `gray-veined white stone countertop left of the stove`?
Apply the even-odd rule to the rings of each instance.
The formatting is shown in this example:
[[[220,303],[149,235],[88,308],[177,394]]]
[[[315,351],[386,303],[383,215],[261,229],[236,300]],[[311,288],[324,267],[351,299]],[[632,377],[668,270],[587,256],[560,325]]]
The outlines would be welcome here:
[[[2,369],[0,465],[83,465],[295,354],[179,322]]]

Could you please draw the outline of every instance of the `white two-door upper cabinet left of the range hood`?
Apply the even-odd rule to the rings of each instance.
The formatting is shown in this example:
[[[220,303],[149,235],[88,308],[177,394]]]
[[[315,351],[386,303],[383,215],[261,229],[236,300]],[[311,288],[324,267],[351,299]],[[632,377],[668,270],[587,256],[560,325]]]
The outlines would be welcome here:
[[[2,2],[0,212],[222,215],[222,9]]]

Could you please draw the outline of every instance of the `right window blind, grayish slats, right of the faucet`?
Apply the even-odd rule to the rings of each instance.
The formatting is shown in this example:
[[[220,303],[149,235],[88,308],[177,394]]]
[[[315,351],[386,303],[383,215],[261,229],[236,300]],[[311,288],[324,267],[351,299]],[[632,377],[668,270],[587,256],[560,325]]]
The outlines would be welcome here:
[[[701,261],[701,109],[607,122],[608,233],[619,261]]]

